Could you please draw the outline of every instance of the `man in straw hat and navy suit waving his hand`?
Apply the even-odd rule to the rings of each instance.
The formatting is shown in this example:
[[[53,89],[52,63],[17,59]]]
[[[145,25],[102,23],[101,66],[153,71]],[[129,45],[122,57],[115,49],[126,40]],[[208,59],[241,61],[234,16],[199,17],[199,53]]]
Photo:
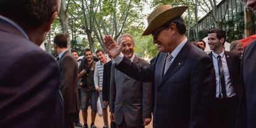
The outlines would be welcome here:
[[[155,81],[154,127],[211,127],[211,102],[215,92],[213,64],[209,56],[186,37],[181,15],[187,7],[157,7],[148,16],[143,35],[153,35],[160,53],[153,64],[142,67],[121,53],[111,36],[105,46],[116,68],[136,80]]]

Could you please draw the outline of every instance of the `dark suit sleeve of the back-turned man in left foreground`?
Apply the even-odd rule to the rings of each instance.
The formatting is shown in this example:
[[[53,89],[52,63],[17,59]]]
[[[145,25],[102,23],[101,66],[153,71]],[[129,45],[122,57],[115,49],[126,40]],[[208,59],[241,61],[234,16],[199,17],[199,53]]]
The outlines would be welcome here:
[[[0,75],[0,85],[0,127],[64,127],[59,69],[49,54],[22,54]]]

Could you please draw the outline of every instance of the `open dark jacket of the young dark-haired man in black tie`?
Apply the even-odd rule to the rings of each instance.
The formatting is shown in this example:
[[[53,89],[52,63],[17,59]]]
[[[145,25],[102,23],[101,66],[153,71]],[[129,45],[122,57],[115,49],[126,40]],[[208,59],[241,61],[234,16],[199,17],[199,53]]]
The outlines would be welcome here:
[[[240,70],[241,70],[241,60],[239,59],[238,54],[231,53],[229,51],[224,51],[228,71],[231,79],[231,85],[234,87],[236,95],[241,98],[241,84],[240,84]],[[208,54],[213,59],[213,53]],[[216,85],[215,85],[216,86]],[[216,93],[215,93],[216,94]]]

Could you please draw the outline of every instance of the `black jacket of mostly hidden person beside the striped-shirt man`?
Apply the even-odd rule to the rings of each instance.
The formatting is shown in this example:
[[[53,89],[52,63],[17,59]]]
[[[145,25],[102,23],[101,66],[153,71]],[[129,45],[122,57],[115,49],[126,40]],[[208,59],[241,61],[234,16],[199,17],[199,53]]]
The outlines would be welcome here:
[[[108,61],[108,62],[106,62],[106,64],[104,64],[103,83],[102,83],[103,101],[109,101],[111,65],[112,65],[112,61]]]

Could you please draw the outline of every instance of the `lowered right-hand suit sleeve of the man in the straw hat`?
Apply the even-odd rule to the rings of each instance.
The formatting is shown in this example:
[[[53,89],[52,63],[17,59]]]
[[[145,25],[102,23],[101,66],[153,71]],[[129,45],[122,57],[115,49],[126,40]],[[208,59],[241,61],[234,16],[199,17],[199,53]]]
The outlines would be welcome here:
[[[211,103],[215,98],[215,70],[210,58],[198,58],[190,76],[190,121],[189,127],[211,126]]]

